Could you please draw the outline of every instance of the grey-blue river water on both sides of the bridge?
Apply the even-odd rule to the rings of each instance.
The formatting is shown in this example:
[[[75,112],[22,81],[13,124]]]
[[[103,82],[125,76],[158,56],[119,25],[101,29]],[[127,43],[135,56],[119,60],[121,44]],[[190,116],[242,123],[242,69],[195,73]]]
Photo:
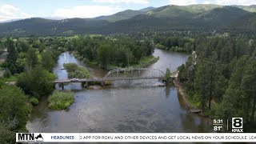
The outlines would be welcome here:
[[[155,50],[158,62],[150,68],[172,71],[186,62],[185,54]],[[60,55],[54,70],[58,78],[67,78],[63,63],[75,62],[72,54]],[[96,76],[106,74],[94,66],[86,66]],[[114,82],[104,90],[82,89],[70,84],[75,102],[67,110],[50,110],[46,99],[35,106],[27,129],[30,132],[212,132],[206,118],[191,114],[174,86],[158,87],[158,80]],[[58,87],[58,86],[57,86]]]

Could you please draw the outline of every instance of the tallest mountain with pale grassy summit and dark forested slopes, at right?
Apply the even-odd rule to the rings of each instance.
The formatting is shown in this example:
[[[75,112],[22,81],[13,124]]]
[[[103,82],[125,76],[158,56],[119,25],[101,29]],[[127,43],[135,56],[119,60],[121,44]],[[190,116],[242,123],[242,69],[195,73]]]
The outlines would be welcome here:
[[[162,6],[147,14],[110,23],[103,30],[106,33],[156,30],[215,30],[226,28],[231,22],[251,14],[234,6]]]

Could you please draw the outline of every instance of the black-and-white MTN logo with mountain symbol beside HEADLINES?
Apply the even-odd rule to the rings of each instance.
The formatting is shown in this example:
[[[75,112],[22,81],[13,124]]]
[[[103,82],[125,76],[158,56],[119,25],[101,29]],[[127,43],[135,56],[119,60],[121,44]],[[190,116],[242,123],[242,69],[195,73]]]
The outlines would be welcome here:
[[[18,133],[16,134],[16,142],[44,142],[42,134],[34,133]]]

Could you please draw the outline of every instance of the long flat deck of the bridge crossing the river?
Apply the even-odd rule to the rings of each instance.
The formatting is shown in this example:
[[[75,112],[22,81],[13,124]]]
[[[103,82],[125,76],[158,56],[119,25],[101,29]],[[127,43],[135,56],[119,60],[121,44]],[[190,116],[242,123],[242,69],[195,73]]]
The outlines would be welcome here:
[[[120,81],[120,80],[140,80],[140,79],[159,79],[163,77],[115,77],[115,78],[83,78],[78,81],[71,81],[70,79],[56,80],[54,83],[71,83],[71,82],[103,82],[103,81]]]

